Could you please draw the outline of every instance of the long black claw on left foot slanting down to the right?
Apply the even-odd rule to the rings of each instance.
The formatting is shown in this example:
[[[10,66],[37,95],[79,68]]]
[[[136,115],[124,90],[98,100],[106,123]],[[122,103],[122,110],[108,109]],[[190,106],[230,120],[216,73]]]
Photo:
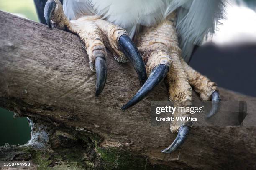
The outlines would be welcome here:
[[[147,73],[146,73],[146,68],[145,68],[143,59],[140,55],[140,52],[138,51],[138,48],[136,47],[136,45],[133,43],[133,41],[130,39],[128,35],[122,35],[119,38],[118,42],[121,47],[121,50],[126,55],[126,57],[130,60],[134,69],[136,70],[142,86],[144,82],[146,82],[147,80]]]

